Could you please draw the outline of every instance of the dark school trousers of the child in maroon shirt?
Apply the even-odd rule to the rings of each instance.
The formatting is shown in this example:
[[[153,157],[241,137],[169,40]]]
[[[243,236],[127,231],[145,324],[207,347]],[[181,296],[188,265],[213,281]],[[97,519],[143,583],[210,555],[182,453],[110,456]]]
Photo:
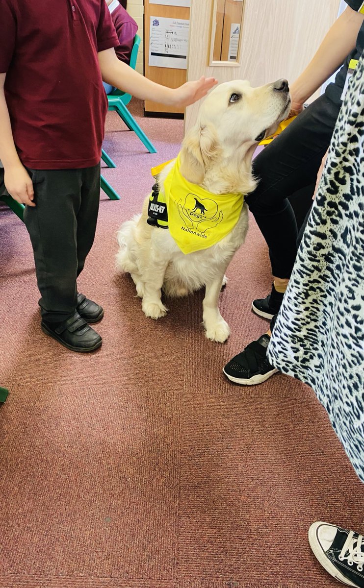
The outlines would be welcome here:
[[[35,206],[24,222],[34,252],[42,319],[61,322],[77,307],[77,277],[94,242],[100,163],[84,169],[28,169]],[[0,191],[5,193],[4,171]]]

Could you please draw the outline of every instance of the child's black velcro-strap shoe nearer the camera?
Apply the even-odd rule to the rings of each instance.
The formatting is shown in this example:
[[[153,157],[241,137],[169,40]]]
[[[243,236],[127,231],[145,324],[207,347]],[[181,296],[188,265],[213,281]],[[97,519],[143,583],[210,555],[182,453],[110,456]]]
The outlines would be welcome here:
[[[61,323],[50,323],[45,320],[41,322],[44,333],[53,337],[56,341],[80,353],[88,353],[98,349],[102,343],[100,335],[88,326],[85,319],[82,319],[78,312],[71,318]]]

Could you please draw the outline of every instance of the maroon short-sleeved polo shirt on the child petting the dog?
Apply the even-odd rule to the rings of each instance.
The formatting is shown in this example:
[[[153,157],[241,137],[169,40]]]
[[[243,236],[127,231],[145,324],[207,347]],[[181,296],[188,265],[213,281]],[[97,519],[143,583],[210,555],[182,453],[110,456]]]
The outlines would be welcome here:
[[[107,98],[97,53],[118,44],[105,0],[0,0],[0,72],[25,166],[100,161]]]

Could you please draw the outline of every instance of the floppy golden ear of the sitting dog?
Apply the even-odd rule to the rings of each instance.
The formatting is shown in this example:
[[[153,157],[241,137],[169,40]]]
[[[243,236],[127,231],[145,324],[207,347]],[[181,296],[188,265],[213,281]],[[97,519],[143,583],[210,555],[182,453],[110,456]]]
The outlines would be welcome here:
[[[201,184],[206,168],[219,151],[219,142],[213,129],[209,126],[194,126],[182,143],[181,174],[188,182]]]

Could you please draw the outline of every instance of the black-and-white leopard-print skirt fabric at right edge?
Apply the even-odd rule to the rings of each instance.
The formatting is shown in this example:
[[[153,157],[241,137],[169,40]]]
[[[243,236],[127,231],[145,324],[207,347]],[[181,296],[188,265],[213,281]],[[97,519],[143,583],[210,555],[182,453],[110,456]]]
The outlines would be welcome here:
[[[364,56],[337,119],[268,358],[315,390],[364,482]]]

